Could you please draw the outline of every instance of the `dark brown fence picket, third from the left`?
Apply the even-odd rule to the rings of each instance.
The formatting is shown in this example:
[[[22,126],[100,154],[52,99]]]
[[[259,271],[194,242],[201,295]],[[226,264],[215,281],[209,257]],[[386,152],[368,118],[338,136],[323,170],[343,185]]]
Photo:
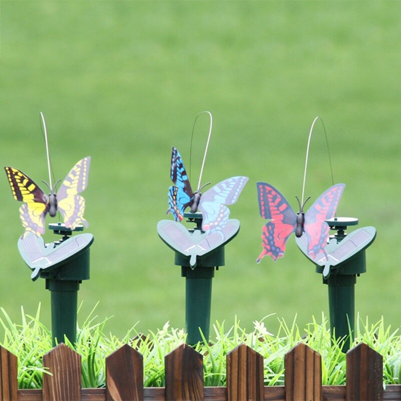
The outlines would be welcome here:
[[[143,399],[143,356],[128,344],[106,358],[106,399]]]

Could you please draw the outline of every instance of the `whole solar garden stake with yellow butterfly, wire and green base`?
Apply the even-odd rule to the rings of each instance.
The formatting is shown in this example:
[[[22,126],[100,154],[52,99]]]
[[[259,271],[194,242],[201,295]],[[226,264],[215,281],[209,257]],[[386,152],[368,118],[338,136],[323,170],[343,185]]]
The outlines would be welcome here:
[[[92,234],[79,234],[72,237],[72,232],[88,227],[83,214],[85,199],[79,195],[88,184],[90,157],[78,161],[67,174],[58,192],[57,181],[52,184],[49,146],[46,123],[41,113],[46,143],[49,168],[50,194],[43,190],[25,173],[13,167],[5,167],[13,196],[23,202],[20,218],[25,228],[18,240],[18,249],[23,260],[32,269],[31,278],[46,280],[46,289],[51,291],[52,337],[64,341],[76,339],[77,298],[82,280],[89,279],[89,247],[93,243]],[[44,181],[45,182],[45,181]],[[49,224],[49,229],[61,240],[45,244],[45,218],[49,214],[55,217],[57,212],[63,216],[64,223]],[[81,224],[82,223],[82,224]]]

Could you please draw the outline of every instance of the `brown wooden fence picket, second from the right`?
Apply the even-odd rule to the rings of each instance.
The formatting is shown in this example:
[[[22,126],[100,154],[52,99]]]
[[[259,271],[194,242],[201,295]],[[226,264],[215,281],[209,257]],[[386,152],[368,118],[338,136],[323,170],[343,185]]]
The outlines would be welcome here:
[[[304,343],[293,347],[284,359],[285,399],[322,399],[321,356]]]

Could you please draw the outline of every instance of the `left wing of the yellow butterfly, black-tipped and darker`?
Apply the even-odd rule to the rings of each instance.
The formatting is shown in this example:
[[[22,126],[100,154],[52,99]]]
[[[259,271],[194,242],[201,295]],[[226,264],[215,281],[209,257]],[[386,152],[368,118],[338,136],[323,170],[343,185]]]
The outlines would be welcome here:
[[[45,232],[45,216],[49,210],[48,196],[22,171],[14,167],[5,167],[11,191],[16,200],[24,202],[20,208],[21,222],[27,232],[37,236]]]

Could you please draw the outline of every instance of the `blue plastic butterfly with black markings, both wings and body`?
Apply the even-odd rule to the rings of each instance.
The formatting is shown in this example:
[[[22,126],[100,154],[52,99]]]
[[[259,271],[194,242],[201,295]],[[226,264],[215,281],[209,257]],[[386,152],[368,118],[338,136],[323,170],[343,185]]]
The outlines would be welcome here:
[[[202,230],[211,232],[221,230],[226,225],[230,210],[225,205],[237,202],[248,181],[248,177],[236,176],[219,182],[203,195],[200,193],[202,188],[193,192],[181,155],[174,146],[171,151],[170,177],[175,185],[169,187],[170,207],[167,214],[171,213],[175,221],[181,221],[186,208],[189,207],[191,213],[199,209],[203,216]]]

